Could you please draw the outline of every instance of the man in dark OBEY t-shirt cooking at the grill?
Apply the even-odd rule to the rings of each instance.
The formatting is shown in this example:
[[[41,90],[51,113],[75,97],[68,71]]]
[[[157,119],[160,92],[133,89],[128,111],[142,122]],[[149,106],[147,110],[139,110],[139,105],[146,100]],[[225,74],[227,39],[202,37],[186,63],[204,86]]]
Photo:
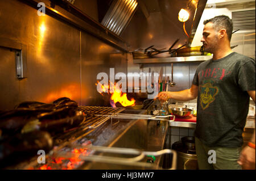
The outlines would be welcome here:
[[[205,20],[204,25],[201,42],[213,58],[199,65],[190,89],[160,92],[158,99],[197,97],[195,140],[199,169],[255,169],[255,131],[240,158],[249,98],[255,102],[255,60],[232,52],[233,23],[228,16]],[[208,162],[209,150],[215,151],[216,163]]]

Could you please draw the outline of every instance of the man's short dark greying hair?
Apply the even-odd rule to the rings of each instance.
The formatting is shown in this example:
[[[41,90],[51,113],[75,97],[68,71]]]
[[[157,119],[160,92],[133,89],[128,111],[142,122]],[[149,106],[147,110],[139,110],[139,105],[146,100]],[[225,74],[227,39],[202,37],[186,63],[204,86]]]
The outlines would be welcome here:
[[[204,25],[209,22],[213,23],[213,27],[215,31],[219,31],[221,30],[221,28],[226,29],[226,34],[228,35],[229,41],[231,40],[233,23],[232,23],[232,20],[229,18],[229,16],[225,16],[225,15],[215,16],[212,19],[204,20]]]

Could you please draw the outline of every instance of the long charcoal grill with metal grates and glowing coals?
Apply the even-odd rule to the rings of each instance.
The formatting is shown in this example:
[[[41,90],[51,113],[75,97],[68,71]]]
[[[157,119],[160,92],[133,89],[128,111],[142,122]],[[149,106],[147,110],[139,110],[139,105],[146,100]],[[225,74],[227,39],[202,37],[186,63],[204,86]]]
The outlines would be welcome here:
[[[67,98],[61,99],[65,100]],[[70,105],[67,106],[67,101],[65,102],[65,108],[70,107]],[[168,169],[175,169],[176,152],[163,149],[168,125],[171,121],[174,121],[175,117],[172,115],[148,115],[147,112],[150,112],[152,100],[145,103],[143,106],[148,107],[148,110],[79,106],[77,107],[76,116],[67,115],[61,117],[61,119],[48,116],[47,121],[44,121],[40,116],[43,114],[45,117],[48,112],[41,113],[37,116],[41,121],[41,124],[38,124],[39,128],[32,130],[35,124],[32,123],[34,125],[31,127],[31,121],[28,121],[22,132],[23,135],[30,134],[30,136],[38,134],[38,137],[29,139],[35,142],[38,141],[43,145],[44,141],[42,141],[42,136],[38,131],[47,131],[50,134],[50,137],[47,138],[47,146],[51,149],[44,149],[46,146],[40,147],[42,150],[28,148],[26,151],[34,155],[33,157],[30,155],[30,157],[17,159],[12,161],[11,164],[8,158],[23,157],[24,151],[20,148],[10,149],[13,153],[3,151],[3,149],[9,149],[13,146],[13,144],[6,144],[3,140],[6,138],[6,129],[3,129],[1,151],[4,152],[4,155],[1,157],[1,167],[2,169],[30,170],[162,169],[163,156],[171,155],[171,157],[168,157],[170,158],[169,162],[171,162],[171,167]],[[32,103],[21,103],[16,110],[28,111],[31,109],[30,106],[24,108],[24,104],[31,105]],[[60,105],[63,107],[64,104],[59,103],[57,107],[60,107]],[[49,104],[42,104],[42,106],[46,108]],[[40,106],[41,110],[42,106]],[[34,108],[34,110],[39,110],[39,108]],[[56,108],[54,111],[57,112],[59,109]],[[7,119],[8,115],[5,115],[6,113],[2,113],[1,118]],[[78,121],[76,120],[77,116],[82,117],[79,124],[75,124]],[[15,119],[15,117],[11,117]],[[73,123],[69,121],[73,121]],[[68,123],[69,126],[63,127],[62,122]],[[46,126],[45,123],[48,125]],[[54,128],[52,125],[54,125]],[[63,127],[64,129],[61,128],[57,131],[57,127]],[[10,142],[15,141],[15,138],[10,139]],[[26,139],[19,141],[26,141]],[[31,146],[30,144],[31,142],[28,141],[27,146]],[[41,155],[42,153],[45,155]]]

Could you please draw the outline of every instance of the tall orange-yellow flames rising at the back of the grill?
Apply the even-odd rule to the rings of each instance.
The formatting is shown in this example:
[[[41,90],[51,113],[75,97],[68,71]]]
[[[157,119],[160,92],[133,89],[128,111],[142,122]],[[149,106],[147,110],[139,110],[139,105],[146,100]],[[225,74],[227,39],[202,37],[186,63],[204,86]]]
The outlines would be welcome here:
[[[115,103],[119,102],[122,104],[122,106],[135,106],[135,100],[132,98],[131,100],[127,99],[127,94],[123,93],[120,86],[118,85],[118,83],[112,83],[110,82],[110,86],[109,85],[101,85],[100,82],[96,83],[96,86],[100,84],[101,86],[101,90],[100,90],[100,94],[102,94],[102,92],[105,92],[106,90],[108,90],[108,94],[110,94],[109,92],[109,88],[110,90],[114,90],[113,93],[111,93],[111,98],[110,98],[110,104],[112,105],[112,107],[115,107]]]

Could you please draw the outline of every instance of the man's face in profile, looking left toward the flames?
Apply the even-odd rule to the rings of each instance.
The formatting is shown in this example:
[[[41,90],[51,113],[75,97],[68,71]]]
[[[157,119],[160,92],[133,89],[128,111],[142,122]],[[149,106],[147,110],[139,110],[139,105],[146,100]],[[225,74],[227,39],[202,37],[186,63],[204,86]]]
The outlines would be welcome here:
[[[209,22],[205,24],[201,42],[203,42],[205,52],[214,53],[217,49],[218,37],[213,28],[213,23]]]

